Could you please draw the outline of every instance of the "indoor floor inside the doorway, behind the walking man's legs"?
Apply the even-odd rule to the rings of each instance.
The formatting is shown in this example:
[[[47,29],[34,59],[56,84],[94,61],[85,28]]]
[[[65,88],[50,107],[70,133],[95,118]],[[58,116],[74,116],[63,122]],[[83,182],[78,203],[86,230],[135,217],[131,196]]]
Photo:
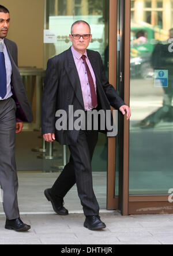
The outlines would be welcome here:
[[[18,172],[18,204],[22,213],[51,213],[51,203],[44,196],[44,190],[52,187],[60,173]],[[100,205],[106,209],[107,176],[105,172],[93,172],[93,187]],[[65,197],[65,207],[70,212],[82,213],[82,206],[78,198],[76,185]],[[0,204],[0,213],[3,212]]]

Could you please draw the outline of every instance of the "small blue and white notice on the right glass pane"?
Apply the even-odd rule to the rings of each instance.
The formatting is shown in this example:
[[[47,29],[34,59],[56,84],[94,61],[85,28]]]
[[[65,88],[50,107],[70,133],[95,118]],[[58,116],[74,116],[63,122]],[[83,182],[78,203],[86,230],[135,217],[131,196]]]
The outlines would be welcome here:
[[[168,87],[168,70],[155,70],[155,87]]]

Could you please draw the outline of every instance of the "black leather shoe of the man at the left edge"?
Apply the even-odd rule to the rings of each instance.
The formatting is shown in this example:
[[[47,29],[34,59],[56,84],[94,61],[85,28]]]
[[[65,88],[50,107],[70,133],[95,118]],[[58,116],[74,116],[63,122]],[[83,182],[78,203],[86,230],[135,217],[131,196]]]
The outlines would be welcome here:
[[[6,220],[5,228],[15,230],[17,232],[25,232],[28,231],[31,226],[22,222],[20,218],[16,218],[15,220]]]

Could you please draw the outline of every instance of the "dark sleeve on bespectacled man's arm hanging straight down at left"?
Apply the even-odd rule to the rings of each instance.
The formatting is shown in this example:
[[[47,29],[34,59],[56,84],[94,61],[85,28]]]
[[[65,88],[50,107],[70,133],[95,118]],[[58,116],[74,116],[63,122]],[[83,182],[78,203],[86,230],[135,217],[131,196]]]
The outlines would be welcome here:
[[[55,133],[55,112],[58,91],[58,71],[54,60],[47,62],[42,98],[42,135]]]

